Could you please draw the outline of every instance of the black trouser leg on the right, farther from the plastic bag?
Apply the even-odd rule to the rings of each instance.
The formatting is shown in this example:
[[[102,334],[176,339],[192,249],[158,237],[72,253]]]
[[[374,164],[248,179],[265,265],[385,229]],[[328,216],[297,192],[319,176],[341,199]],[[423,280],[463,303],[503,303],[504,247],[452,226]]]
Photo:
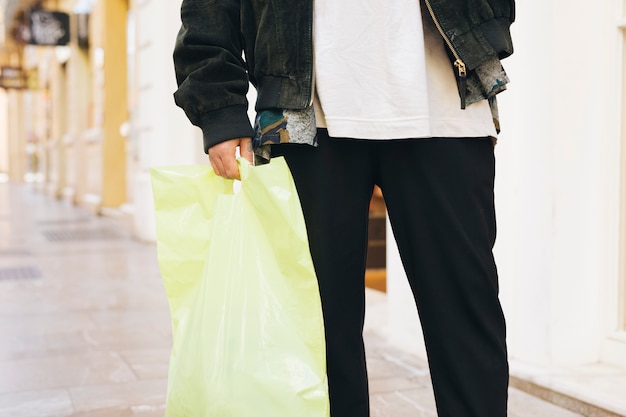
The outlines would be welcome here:
[[[420,314],[439,417],[504,417],[491,141],[392,141],[379,149],[377,180]]]

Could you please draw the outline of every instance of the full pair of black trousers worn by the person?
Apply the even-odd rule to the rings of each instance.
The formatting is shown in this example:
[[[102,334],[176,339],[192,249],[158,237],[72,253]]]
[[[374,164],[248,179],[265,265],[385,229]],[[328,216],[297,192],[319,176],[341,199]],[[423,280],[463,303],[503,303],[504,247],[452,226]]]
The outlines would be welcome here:
[[[369,202],[380,186],[419,311],[440,417],[504,417],[508,363],[492,248],[489,138],[280,145],[319,280],[332,417],[369,416],[362,337]]]

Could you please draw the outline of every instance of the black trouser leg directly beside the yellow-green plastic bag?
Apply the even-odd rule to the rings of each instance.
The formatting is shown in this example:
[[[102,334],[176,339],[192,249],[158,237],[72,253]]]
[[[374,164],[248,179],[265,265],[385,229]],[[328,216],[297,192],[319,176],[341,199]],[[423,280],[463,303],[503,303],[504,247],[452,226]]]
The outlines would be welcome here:
[[[372,196],[367,142],[329,140],[279,145],[289,165],[307,225],[319,281],[332,417],[368,417],[363,347],[367,222]]]

